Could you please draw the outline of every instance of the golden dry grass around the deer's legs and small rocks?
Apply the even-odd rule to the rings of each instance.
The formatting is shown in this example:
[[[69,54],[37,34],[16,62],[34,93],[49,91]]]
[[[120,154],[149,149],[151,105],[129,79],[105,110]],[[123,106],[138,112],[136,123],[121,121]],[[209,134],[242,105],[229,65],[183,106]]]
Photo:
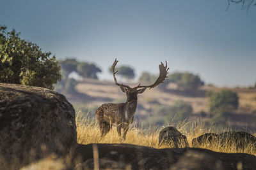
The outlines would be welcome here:
[[[103,138],[100,139],[100,131],[97,121],[95,119],[89,119],[88,117],[81,118],[81,113],[77,114],[76,124],[77,124],[77,142],[81,144],[89,143],[128,143],[133,145],[149,146],[153,148],[166,148],[168,146],[158,146],[158,134],[159,130],[145,131],[145,129],[138,129],[131,127],[129,129],[126,140],[120,141],[116,128],[113,127],[111,131]],[[207,132],[216,132],[214,131],[214,126],[210,128],[205,128],[204,123],[198,120],[197,122],[180,122],[180,124],[175,125],[178,131],[186,135],[188,139],[189,146],[192,146],[191,141],[193,138],[196,138]],[[228,131],[228,129],[223,129],[221,132]],[[218,132],[217,132],[218,133]],[[255,133],[256,134],[256,133]],[[254,134],[254,136],[255,136]],[[228,141],[228,139],[227,139]],[[209,145],[205,143],[202,148],[206,148],[215,152],[225,152],[225,153],[249,153],[256,155],[256,151],[253,150],[253,145],[248,145],[243,149],[236,149],[235,143],[227,143],[225,145]]]

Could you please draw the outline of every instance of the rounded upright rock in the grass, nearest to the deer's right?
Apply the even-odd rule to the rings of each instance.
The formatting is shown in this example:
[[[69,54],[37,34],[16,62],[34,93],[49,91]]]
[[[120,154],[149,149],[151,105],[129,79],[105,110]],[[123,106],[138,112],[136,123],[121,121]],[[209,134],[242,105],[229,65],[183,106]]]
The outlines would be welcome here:
[[[165,127],[159,132],[158,145],[167,145],[174,148],[189,147],[188,140],[175,127]]]

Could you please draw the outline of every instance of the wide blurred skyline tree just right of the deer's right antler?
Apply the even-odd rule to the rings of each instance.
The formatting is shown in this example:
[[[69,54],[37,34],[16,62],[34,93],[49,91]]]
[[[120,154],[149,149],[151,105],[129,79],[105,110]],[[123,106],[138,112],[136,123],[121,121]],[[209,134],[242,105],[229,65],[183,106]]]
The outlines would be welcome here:
[[[180,90],[193,91],[204,85],[200,77],[192,73],[176,72],[168,76],[168,81],[177,84]]]

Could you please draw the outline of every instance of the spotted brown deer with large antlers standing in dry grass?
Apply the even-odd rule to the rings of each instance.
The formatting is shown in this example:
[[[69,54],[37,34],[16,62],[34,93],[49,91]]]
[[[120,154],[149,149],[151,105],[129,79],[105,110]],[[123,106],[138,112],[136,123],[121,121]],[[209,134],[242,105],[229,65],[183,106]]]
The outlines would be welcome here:
[[[112,125],[116,126],[116,130],[120,140],[125,140],[127,131],[129,129],[129,125],[132,124],[134,120],[134,113],[136,111],[138,94],[142,94],[146,89],[152,89],[163,83],[165,78],[167,78],[168,69],[167,62],[165,61],[165,66],[161,62],[159,65],[159,77],[156,82],[152,85],[138,85],[134,88],[129,87],[129,85],[124,85],[123,83],[118,83],[116,81],[115,74],[118,71],[115,71],[115,66],[118,60],[115,59],[111,66],[111,72],[113,73],[113,78],[115,81],[115,85],[120,87],[122,92],[126,93],[127,100],[125,103],[104,103],[95,111],[95,115],[97,118],[97,122],[99,123],[100,128],[100,138],[104,138],[106,134],[111,130]],[[121,130],[123,129],[123,135],[121,134]]]

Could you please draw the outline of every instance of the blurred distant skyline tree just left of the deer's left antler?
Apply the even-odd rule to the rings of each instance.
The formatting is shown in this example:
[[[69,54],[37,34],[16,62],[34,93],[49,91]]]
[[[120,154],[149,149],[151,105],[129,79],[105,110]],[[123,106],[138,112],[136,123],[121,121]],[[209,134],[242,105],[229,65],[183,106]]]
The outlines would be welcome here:
[[[95,64],[89,64],[87,62],[80,62],[77,65],[77,73],[86,78],[98,79],[97,73],[101,72],[101,69]]]

